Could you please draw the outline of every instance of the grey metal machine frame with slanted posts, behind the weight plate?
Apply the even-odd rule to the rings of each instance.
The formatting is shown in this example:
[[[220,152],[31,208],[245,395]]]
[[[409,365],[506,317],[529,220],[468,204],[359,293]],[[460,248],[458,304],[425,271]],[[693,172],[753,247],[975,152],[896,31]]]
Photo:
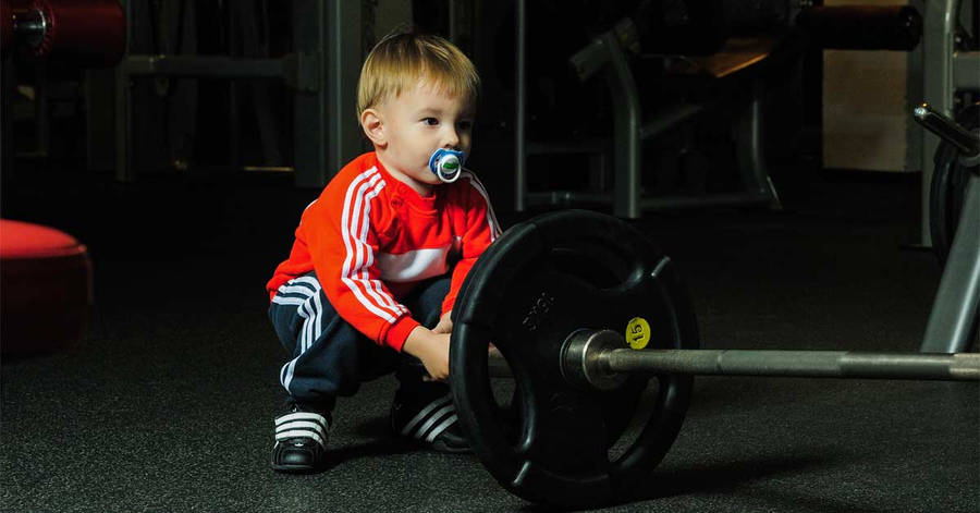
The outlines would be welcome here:
[[[575,148],[558,148],[548,145],[529,145],[527,143],[527,3],[526,0],[515,0],[515,3],[514,205],[517,211],[526,210],[529,205],[567,205],[576,201],[587,201],[612,204],[615,216],[637,219],[644,210],[650,209],[725,205],[768,205],[772,208],[780,207],[779,194],[765,168],[762,149],[763,84],[758,78],[752,81],[751,99],[744,113],[737,120],[737,123],[740,124],[740,130],[734,131],[738,168],[745,191],[697,196],[644,196],[640,184],[642,170],[641,145],[644,141],[653,138],[672,126],[691,119],[702,112],[706,106],[670,106],[658,112],[651,120],[645,122],[642,120],[642,109],[636,81],[614,30],[609,30],[593,39],[591,45],[578,54],[586,56],[585,60],[588,62],[585,65],[590,70],[596,71],[599,68],[604,68],[607,82],[612,91],[614,120],[612,135],[612,167],[614,169],[612,194],[572,191],[529,192],[527,190],[527,157],[529,155],[563,151],[596,154],[602,151],[603,148],[588,144]]]

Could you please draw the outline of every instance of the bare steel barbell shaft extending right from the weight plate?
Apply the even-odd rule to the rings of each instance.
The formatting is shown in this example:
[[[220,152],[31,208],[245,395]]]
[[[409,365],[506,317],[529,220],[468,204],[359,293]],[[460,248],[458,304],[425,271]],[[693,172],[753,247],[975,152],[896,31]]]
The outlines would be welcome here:
[[[977,353],[616,349],[598,361],[609,371],[626,374],[980,380]]]

